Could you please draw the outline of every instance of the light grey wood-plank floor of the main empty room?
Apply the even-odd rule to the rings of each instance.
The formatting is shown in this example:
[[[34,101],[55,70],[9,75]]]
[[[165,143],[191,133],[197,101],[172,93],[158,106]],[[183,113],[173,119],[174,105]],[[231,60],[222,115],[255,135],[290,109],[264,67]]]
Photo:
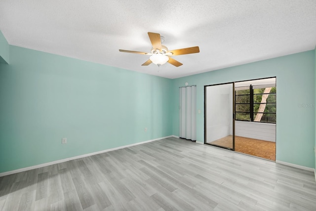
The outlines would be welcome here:
[[[0,177],[1,211],[315,211],[314,172],[166,138]]]

